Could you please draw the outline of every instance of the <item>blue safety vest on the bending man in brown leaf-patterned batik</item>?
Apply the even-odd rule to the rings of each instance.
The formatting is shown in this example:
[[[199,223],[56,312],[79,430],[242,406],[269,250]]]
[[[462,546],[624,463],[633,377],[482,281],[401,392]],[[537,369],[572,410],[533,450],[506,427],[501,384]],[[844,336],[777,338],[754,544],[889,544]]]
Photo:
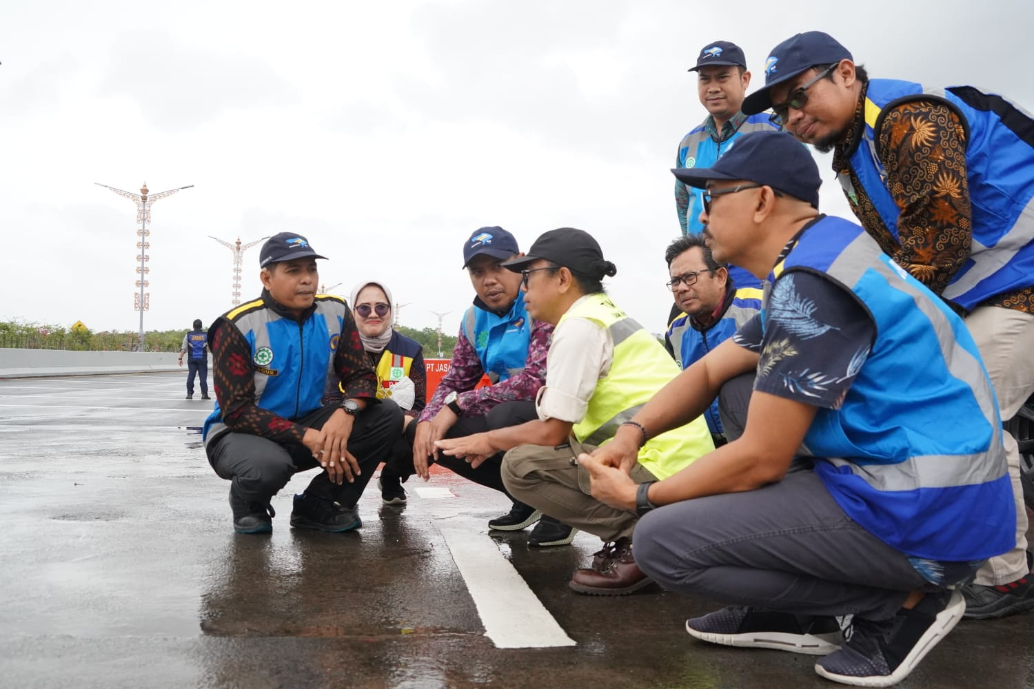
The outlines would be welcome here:
[[[1034,121],[998,95],[972,87],[925,89],[921,84],[873,80],[865,92],[865,127],[850,164],[887,229],[898,237],[901,209],[877,155],[882,116],[909,100],[941,100],[966,128],[966,175],[973,214],[970,256],[944,288],[944,297],[967,309],[1003,292],[1034,284]],[[839,176],[857,205],[850,177]]]

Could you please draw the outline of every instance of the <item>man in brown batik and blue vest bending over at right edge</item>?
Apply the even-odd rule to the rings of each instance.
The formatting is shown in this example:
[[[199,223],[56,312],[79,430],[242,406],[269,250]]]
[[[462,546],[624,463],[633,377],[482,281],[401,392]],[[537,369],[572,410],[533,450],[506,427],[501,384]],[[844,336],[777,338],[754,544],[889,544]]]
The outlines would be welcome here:
[[[884,252],[966,320],[1003,419],[1034,394],[1034,121],[970,86],[870,80],[828,34],[774,49],[744,113],[771,107],[799,140],[833,153],[851,210]],[[1015,547],[965,589],[967,617],[1034,608],[1015,440],[1005,435]]]

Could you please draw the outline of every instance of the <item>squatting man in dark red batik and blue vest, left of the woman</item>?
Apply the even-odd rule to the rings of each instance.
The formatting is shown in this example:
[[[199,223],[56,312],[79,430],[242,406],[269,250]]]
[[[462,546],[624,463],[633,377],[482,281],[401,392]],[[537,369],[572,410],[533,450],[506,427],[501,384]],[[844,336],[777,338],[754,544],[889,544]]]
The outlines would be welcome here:
[[[356,503],[402,428],[402,411],[377,400],[376,376],[339,296],[316,295],[317,254],[301,234],[262,248],[262,295],[209,328],[215,410],[205,451],[231,481],[237,533],[268,533],[271,500],[298,471],[320,467],[295,496],[291,526],[349,531]],[[330,382],[343,400],[323,405]]]

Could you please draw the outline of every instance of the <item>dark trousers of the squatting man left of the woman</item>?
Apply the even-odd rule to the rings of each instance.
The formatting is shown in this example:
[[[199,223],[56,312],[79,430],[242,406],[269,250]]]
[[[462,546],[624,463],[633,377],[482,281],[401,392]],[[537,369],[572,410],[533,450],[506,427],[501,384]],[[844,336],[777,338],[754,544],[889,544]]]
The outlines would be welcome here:
[[[297,422],[322,429],[338,406],[337,402],[329,403]],[[348,437],[348,451],[359,462],[361,471],[355,482],[332,483],[327,471],[321,468],[306,493],[335,500],[344,507],[355,506],[377,464],[389,457],[401,428],[402,410],[391,400],[364,409],[356,416]],[[206,451],[215,473],[232,481],[234,492],[248,502],[268,503],[297,472],[318,467],[305,445],[281,445],[248,433],[224,433]]]

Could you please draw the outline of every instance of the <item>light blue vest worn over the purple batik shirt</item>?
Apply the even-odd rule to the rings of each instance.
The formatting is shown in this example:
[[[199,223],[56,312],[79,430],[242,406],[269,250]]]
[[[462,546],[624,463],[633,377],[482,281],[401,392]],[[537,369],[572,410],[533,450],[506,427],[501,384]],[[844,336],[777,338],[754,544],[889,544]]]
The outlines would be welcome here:
[[[501,316],[472,306],[463,316],[463,337],[478,353],[482,370],[492,383],[506,380],[524,370],[531,344],[533,320],[517,299]]]

